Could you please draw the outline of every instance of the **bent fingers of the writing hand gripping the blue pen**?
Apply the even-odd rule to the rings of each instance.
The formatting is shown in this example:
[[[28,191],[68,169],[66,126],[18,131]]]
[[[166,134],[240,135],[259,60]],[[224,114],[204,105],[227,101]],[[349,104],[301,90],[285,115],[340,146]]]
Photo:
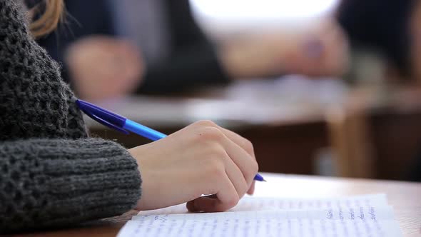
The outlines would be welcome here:
[[[196,137],[213,149],[214,155],[209,166],[215,163],[216,169],[215,172],[211,169],[206,177],[211,176],[208,191],[216,196],[196,198],[188,203],[188,208],[191,211],[225,211],[235,206],[246,192],[254,191],[253,178],[258,172],[258,164],[253,145],[247,139],[220,128],[211,121],[199,121],[195,126],[198,128]],[[221,158],[222,160],[215,160]],[[220,161],[223,161],[223,166]]]

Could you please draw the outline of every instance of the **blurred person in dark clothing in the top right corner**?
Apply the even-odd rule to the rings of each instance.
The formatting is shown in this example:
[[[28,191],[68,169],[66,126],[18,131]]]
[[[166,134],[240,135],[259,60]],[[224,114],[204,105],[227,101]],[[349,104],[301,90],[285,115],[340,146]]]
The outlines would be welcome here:
[[[410,19],[414,0],[343,0],[338,22],[352,49],[374,51],[387,60],[387,69],[401,79],[410,79],[412,35]],[[418,54],[421,55],[421,54]]]

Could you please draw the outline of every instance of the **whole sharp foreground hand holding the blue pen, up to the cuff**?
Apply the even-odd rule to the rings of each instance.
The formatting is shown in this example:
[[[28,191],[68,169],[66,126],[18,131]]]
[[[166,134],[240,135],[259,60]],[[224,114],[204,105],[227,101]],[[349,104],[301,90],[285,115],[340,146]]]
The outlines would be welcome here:
[[[188,202],[190,211],[225,211],[254,191],[258,163],[252,144],[211,121],[193,123],[129,152],[143,181],[138,210]]]

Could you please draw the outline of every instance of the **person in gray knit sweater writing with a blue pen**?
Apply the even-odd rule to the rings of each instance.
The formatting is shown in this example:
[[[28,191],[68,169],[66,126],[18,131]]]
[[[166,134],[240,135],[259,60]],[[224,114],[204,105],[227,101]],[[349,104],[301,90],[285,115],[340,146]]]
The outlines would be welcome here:
[[[53,31],[62,9],[42,1],[27,26],[15,0],[0,0],[0,233],[184,202],[225,211],[253,193],[253,145],[210,121],[128,150],[89,138],[59,65],[33,38]]]

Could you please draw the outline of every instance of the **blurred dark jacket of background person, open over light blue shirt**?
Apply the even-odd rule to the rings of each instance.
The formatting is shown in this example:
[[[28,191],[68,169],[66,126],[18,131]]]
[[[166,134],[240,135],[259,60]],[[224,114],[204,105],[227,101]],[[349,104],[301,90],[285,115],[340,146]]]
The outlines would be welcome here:
[[[193,89],[203,84],[228,82],[212,44],[193,19],[188,0],[166,0],[170,29],[170,56],[148,68],[138,93],[163,93]],[[63,63],[66,47],[90,34],[115,35],[110,6],[103,0],[66,1],[68,23],[56,34],[39,40],[51,56]],[[64,65],[64,77],[67,76]]]

